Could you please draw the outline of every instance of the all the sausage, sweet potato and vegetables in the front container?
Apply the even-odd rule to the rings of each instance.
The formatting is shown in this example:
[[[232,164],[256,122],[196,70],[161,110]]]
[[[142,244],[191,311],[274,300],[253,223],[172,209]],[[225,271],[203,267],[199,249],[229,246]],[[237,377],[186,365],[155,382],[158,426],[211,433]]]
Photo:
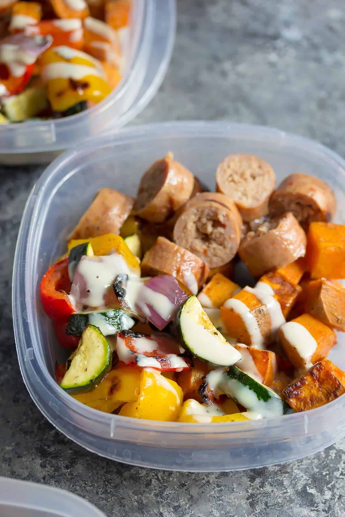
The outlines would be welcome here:
[[[279,417],[330,402],[345,331],[334,193],[263,160],[224,159],[208,192],[171,153],[137,198],[103,188],[40,284],[56,381],[106,413],[179,422]],[[238,271],[247,268],[247,283]],[[237,281],[236,281],[237,280]],[[238,283],[237,283],[238,282]]]

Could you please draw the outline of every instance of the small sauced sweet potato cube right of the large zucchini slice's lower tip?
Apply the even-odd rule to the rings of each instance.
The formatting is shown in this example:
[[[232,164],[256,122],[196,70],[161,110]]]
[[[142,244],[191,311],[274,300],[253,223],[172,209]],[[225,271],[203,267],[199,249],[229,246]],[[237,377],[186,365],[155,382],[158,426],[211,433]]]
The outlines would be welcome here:
[[[242,356],[236,366],[260,383],[270,386],[277,373],[276,354],[269,350],[260,350],[242,343],[233,346]]]

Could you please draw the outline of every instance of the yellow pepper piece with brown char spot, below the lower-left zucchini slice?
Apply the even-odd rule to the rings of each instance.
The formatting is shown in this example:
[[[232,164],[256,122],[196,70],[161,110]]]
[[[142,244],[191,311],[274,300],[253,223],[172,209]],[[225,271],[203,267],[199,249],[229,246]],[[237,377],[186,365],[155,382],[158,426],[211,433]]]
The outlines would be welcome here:
[[[124,402],[136,401],[140,391],[141,370],[121,367],[111,370],[95,389],[72,397],[89,407],[112,413]]]

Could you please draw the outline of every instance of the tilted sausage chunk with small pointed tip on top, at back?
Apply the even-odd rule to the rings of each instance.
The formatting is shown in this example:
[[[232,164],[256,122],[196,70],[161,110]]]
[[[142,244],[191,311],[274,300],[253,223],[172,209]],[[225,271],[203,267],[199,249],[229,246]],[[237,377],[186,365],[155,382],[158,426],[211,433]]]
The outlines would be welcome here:
[[[193,188],[193,174],[168,153],[142,176],[134,210],[146,221],[164,222],[190,198]]]

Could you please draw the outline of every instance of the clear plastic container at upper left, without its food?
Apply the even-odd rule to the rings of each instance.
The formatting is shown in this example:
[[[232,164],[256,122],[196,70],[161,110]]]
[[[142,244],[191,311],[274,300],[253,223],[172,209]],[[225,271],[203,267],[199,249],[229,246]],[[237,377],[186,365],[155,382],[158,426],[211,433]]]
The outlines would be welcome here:
[[[126,69],[106,99],[78,115],[0,125],[0,163],[47,163],[71,145],[119,129],[156,94],[175,39],[175,0],[133,0]]]

